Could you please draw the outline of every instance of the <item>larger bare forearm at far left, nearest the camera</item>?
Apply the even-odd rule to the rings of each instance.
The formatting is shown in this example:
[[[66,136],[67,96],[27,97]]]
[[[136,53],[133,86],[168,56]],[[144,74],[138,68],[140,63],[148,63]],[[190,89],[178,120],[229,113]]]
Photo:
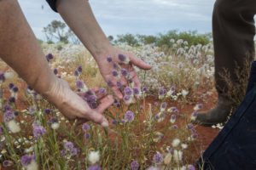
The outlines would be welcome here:
[[[38,93],[46,93],[55,75],[16,0],[0,1],[0,37],[0,57]]]

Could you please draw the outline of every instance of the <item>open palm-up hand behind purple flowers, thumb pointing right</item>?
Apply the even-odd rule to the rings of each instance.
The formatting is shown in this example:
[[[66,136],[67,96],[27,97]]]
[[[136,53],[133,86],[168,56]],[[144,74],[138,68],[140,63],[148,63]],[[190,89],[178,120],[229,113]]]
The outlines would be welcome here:
[[[128,57],[130,59],[130,63],[124,64],[122,61],[120,61],[118,58],[119,54],[124,54],[126,57]],[[112,62],[108,62],[107,58],[109,56],[113,58]],[[123,94],[121,94],[119,88],[116,85],[117,79],[112,75],[112,71],[114,70],[114,62],[118,63],[121,68],[130,71],[130,77],[133,79],[135,87],[137,88],[141,88],[141,83],[138,80],[137,73],[132,65],[136,65],[143,70],[151,69],[151,65],[146,64],[142,59],[138,59],[134,54],[128,53],[119,48],[114,48],[113,46],[108,48],[108,52],[105,52],[104,54],[101,54],[99,56],[95,56],[95,59],[99,66],[102,77],[105,79],[106,82],[112,82],[113,86],[111,88],[113,90],[113,93],[116,94],[119,99],[123,98]],[[120,82],[123,86],[127,86],[127,80],[125,80],[125,77],[121,77]]]

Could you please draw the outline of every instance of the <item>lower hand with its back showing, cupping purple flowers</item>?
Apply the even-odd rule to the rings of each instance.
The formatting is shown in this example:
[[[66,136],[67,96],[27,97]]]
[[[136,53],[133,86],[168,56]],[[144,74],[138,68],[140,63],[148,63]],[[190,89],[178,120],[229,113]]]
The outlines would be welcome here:
[[[93,121],[108,127],[108,121],[102,113],[113,104],[111,95],[102,96],[101,104],[96,109],[90,109],[84,99],[69,88],[67,82],[57,78],[52,88],[43,95],[70,120],[78,118],[79,123]]]

